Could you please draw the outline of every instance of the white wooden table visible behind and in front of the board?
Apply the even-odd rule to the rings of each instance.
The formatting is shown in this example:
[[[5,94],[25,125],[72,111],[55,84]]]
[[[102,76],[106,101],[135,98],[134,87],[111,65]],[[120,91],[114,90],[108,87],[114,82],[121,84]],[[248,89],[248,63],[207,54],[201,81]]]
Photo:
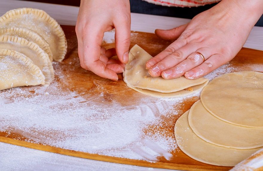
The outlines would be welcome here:
[[[78,7],[29,1],[0,0],[0,15],[11,9],[33,7],[45,10],[59,24],[75,25]],[[189,19],[132,13],[133,31],[151,32],[156,28],[170,29]],[[254,27],[244,47],[263,50],[263,27]],[[0,168],[5,170],[165,170],[94,161],[0,143]],[[4,170],[3,170],[4,171]]]

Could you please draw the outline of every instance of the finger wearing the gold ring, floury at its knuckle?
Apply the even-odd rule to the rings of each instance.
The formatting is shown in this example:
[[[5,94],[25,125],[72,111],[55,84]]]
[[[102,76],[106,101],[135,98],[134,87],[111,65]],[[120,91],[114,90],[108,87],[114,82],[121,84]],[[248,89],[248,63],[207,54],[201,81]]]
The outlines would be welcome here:
[[[209,49],[207,49],[207,48],[198,49],[196,52],[189,55],[186,58],[186,60],[179,63],[177,66],[175,66],[169,70],[163,71],[161,74],[162,77],[165,79],[173,79],[173,78],[183,76],[186,71],[189,71],[189,70],[199,66],[201,63],[204,62],[204,60],[207,60],[210,56],[212,56],[213,52],[210,49],[211,48],[209,48]],[[204,56],[204,59],[200,54],[202,54]]]

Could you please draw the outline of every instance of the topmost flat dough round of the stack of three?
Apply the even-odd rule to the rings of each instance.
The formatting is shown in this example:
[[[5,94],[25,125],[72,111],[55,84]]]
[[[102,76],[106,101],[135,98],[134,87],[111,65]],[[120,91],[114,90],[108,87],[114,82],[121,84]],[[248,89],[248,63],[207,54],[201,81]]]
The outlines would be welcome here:
[[[243,71],[217,77],[203,89],[201,101],[225,122],[263,128],[263,73]]]

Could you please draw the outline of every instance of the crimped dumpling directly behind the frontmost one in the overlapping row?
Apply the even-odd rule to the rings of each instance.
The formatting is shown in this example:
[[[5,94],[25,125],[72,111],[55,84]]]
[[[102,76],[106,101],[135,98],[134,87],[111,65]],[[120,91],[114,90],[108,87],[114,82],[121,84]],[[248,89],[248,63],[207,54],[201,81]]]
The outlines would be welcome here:
[[[48,55],[36,44],[24,38],[4,35],[0,37],[0,49],[18,51],[29,57],[37,65],[45,76],[45,84],[48,85],[54,78],[54,70]]]

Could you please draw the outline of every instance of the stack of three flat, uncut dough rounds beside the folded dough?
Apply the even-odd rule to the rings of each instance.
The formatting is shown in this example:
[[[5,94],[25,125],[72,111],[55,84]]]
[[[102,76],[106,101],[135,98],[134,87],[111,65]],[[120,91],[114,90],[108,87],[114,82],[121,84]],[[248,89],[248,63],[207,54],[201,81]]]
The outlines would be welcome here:
[[[263,73],[216,77],[175,123],[180,149],[191,158],[235,166],[263,147]]]

